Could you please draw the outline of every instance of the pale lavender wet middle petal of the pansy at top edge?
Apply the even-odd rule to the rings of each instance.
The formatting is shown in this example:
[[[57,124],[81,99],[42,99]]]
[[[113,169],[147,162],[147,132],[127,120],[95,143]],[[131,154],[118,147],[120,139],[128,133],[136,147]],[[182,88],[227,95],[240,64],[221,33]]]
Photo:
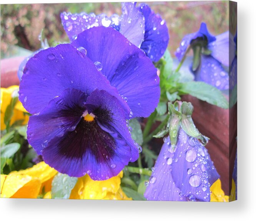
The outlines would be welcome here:
[[[120,33],[140,48],[144,40],[145,18],[135,7],[136,3],[122,2],[122,15],[120,20]]]

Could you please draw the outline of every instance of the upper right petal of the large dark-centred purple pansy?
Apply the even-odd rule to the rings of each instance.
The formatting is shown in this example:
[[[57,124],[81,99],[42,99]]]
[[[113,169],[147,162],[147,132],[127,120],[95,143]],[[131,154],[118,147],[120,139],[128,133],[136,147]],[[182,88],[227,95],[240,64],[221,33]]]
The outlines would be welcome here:
[[[106,76],[119,94],[127,98],[133,117],[149,116],[160,97],[159,77],[151,60],[121,33],[113,28],[90,28],[72,42],[87,50],[87,56],[100,63]]]

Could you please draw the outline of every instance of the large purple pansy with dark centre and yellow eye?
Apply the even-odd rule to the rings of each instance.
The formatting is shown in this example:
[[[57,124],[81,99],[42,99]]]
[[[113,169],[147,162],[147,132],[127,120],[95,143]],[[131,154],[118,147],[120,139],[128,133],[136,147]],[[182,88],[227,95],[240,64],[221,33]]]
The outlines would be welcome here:
[[[28,60],[19,99],[32,116],[28,142],[70,176],[116,176],[138,158],[126,121],[149,116],[160,97],[151,60],[113,28],[93,27],[72,44]]]

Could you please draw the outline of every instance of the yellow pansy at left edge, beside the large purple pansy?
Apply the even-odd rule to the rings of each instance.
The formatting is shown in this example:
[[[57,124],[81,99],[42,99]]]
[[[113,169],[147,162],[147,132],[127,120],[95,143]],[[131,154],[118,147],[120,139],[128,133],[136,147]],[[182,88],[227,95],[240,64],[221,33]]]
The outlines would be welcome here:
[[[5,130],[6,125],[4,123],[4,117],[5,117],[5,111],[7,106],[10,104],[12,100],[12,93],[15,90],[18,90],[19,86],[13,85],[8,88],[1,88],[0,94],[1,94],[1,130]],[[10,121],[10,125],[12,125],[17,120],[23,120],[23,125],[27,124],[28,122],[28,115],[24,115],[24,113],[27,112],[25,108],[22,106],[22,103],[20,101],[17,101],[14,110],[13,110],[13,116]]]

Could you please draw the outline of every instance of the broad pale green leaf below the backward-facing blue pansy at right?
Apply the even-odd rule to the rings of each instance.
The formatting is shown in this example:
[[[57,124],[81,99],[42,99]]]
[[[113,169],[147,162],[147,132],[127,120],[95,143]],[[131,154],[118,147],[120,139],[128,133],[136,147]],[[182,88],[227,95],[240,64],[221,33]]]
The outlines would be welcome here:
[[[208,102],[209,104],[225,109],[228,108],[228,101],[223,93],[214,86],[208,85],[202,81],[183,83],[179,91],[184,94],[190,94],[200,100]]]

